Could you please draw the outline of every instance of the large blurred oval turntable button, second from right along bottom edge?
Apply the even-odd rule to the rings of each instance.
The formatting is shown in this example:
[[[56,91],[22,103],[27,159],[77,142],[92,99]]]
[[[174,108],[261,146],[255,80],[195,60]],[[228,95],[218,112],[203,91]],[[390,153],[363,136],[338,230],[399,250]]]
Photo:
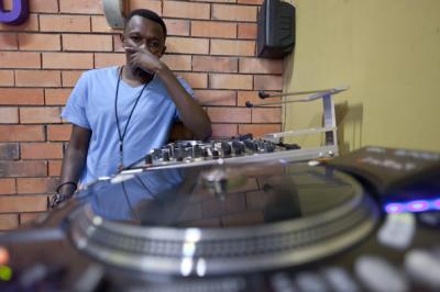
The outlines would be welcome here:
[[[367,291],[408,291],[408,280],[404,273],[377,256],[362,256],[354,262],[354,271]]]

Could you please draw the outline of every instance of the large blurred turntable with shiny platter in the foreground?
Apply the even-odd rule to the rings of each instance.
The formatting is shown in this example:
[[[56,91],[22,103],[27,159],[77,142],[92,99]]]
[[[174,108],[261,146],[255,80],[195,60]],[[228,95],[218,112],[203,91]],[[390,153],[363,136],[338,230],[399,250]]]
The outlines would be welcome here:
[[[268,156],[89,184],[0,237],[1,291],[440,290],[439,155]]]

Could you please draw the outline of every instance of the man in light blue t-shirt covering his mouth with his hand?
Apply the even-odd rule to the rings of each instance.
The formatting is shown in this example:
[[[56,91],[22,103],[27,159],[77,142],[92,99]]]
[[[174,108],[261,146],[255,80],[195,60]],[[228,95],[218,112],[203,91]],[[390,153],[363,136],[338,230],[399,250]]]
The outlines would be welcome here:
[[[198,139],[210,137],[210,120],[193,90],[161,61],[165,37],[156,13],[134,10],[121,35],[125,65],[82,74],[62,113],[73,130],[51,206],[72,196],[78,181],[111,176],[164,145],[176,120]]]

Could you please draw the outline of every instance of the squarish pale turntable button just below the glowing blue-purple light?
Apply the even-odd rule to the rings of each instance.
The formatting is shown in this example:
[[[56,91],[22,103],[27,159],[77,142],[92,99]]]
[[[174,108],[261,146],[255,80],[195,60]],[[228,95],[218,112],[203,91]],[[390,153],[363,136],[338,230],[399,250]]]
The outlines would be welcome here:
[[[388,214],[377,233],[377,239],[384,246],[405,249],[411,244],[415,232],[416,218],[413,213]]]

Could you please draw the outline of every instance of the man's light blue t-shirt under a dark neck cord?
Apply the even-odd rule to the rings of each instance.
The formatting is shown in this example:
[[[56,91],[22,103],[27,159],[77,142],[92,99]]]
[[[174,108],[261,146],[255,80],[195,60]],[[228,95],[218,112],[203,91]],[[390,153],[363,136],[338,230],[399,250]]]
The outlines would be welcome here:
[[[120,166],[119,135],[114,113],[118,67],[86,71],[72,91],[62,117],[91,130],[86,168],[80,182],[89,183],[118,172]],[[190,87],[178,79],[193,97]],[[131,87],[122,79],[118,93],[118,119],[121,134],[143,86]],[[123,165],[129,166],[151,149],[168,141],[172,126],[179,115],[165,85],[155,76],[145,87],[123,138]]]

